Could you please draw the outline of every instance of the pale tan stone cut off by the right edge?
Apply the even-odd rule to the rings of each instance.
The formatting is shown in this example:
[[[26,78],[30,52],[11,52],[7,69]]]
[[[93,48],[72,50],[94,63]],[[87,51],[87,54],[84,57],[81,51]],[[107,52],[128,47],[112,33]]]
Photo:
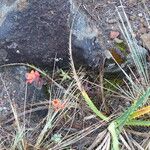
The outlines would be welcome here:
[[[150,51],[150,32],[141,35],[143,46]]]

